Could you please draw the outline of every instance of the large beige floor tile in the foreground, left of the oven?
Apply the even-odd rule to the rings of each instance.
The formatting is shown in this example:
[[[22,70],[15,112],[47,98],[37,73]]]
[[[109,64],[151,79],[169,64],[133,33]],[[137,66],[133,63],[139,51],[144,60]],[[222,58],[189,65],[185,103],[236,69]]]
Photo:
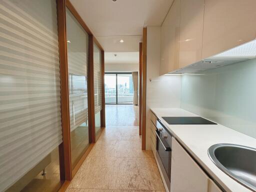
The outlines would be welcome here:
[[[87,157],[69,188],[164,190],[152,157]]]

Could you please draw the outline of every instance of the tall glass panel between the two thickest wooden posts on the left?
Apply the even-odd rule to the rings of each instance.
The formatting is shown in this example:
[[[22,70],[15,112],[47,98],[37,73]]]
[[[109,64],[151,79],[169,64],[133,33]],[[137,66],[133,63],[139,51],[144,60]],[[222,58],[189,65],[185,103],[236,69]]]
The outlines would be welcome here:
[[[88,34],[67,8],[66,31],[71,163],[73,168],[89,145],[87,98]]]

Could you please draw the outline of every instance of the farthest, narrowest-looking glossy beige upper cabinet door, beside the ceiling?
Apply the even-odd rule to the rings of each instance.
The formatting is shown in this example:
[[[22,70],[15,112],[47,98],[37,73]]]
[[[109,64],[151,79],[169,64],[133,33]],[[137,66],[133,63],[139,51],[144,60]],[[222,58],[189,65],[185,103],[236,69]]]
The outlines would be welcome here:
[[[180,0],[174,0],[161,26],[160,75],[178,68]]]

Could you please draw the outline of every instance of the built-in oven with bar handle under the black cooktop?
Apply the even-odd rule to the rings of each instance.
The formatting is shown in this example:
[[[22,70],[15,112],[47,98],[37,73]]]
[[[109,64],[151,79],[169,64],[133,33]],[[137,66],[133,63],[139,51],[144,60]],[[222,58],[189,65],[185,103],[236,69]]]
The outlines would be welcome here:
[[[170,191],[170,170],[171,170],[171,137],[172,135],[163,123],[156,121],[156,158],[160,166],[163,178]]]

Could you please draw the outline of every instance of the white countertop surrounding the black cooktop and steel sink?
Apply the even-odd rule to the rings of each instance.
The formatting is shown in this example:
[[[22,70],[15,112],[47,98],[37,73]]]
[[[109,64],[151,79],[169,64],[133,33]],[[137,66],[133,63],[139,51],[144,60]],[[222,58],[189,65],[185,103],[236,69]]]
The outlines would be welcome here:
[[[216,143],[233,143],[256,148],[256,139],[220,124],[168,124],[162,116],[198,116],[181,108],[151,108],[173,136],[226,191],[251,191],[221,171],[208,157]]]

